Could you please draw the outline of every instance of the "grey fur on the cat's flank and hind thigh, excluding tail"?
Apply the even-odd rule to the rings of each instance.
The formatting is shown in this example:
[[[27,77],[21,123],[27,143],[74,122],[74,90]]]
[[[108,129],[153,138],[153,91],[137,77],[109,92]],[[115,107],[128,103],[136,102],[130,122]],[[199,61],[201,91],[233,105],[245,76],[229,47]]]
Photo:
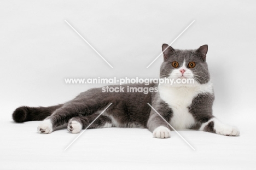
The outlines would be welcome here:
[[[146,85],[132,84],[129,86],[146,87]],[[147,87],[152,86],[153,84],[150,84]],[[109,87],[119,87],[119,85],[111,85]],[[126,88],[127,86],[125,86],[125,91],[127,91]],[[127,100],[127,98],[129,98],[129,100]],[[151,93],[111,93],[102,92],[101,88],[95,88],[80,93],[76,98],[55,110],[55,112],[46,119],[51,119],[54,128],[56,128],[57,126],[67,123],[69,119],[75,117],[83,122],[83,128],[85,128],[85,126],[89,125],[92,121],[91,119],[83,121],[86,119],[86,116],[97,114],[100,110],[106,108],[107,105],[113,103],[111,107],[106,110],[108,116],[112,116],[119,124],[123,125],[123,127],[129,127],[130,124],[138,124],[146,128],[150,112],[150,108],[147,105],[148,102],[151,103]],[[94,124],[96,123],[97,122],[94,122]]]

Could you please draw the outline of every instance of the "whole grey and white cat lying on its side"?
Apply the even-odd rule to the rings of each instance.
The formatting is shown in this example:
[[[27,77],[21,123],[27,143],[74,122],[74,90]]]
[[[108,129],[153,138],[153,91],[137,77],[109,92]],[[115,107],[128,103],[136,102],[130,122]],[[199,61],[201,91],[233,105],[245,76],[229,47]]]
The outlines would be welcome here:
[[[196,50],[178,50],[168,44],[162,45],[164,62],[160,67],[160,78],[190,78],[195,80],[194,84],[128,84],[129,87],[158,88],[158,91],[147,94],[102,92],[101,88],[94,88],[64,104],[16,108],[13,119],[15,122],[43,120],[38,126],[39,133],[51,133],[61,125],[67,125],[71,133],[79,133],[112,103],[89,128],[148,128],[155,138],[169,138],[172,128],[239,136],[236,127],[223,124],[212,114],[214,91],[206,62],[207,51],[208,45]],[[127,86],[124,87],[127,91]]]

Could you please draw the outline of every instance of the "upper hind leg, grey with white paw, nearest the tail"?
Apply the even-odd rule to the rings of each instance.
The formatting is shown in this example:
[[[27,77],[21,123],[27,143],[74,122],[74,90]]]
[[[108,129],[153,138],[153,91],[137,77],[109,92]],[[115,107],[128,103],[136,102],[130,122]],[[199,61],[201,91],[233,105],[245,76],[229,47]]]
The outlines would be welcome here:
[[[75,116],[88,116],[98,110],[106,108],[113,100],[112,93],[103,93],[101,88],[90,89],[80,93],[73,100],[63,104],[63,106],[46,118],[39,126],[39,133],[51,133],[56,127],[66,124],[69,119]],[[113,102],[112,102],[113,103]]]

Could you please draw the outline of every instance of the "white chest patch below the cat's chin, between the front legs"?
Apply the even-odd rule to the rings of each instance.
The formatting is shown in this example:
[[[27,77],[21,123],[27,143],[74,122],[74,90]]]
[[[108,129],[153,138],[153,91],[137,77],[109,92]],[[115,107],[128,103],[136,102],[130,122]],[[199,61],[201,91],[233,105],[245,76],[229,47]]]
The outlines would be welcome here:
[[[194,97],[199,93],[213,93],[211,82],[203,85],[181,87],[161,84],[158,86],[158,90],[160,98],[172,108],[173,116],[169,123],[176,130],[188,129],[195,124],[195,119],[188,110]]]

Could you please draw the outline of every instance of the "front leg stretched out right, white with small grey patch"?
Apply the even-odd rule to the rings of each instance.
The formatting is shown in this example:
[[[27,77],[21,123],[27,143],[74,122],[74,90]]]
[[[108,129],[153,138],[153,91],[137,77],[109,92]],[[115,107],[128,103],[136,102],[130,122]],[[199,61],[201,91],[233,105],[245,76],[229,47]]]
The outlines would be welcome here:
[[[240,134],[238,128],[223,124],[216,118],[212,118],[207,122],[203,123],[200,127],[200,131],[212,132],[225,136],[239,136]]]

